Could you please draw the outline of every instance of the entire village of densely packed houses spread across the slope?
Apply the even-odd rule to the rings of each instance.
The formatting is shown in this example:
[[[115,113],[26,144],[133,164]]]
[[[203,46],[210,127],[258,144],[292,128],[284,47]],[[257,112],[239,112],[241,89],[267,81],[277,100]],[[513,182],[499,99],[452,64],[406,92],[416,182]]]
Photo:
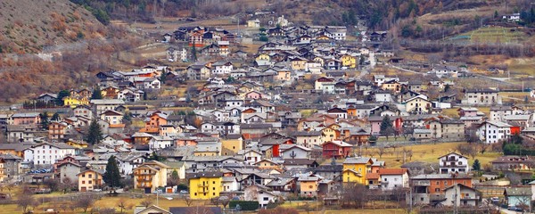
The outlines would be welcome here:
[[[383,45],[387,31],[284,16],[242,28],[179,27],[158,39],[173,65],[99,72],[94,86],[3,108],[2,202],[61,210],[21,205],[21,188],[181,204],[136,201],[136,214],[534,209],[535,91],[456,62],[415,70]]]

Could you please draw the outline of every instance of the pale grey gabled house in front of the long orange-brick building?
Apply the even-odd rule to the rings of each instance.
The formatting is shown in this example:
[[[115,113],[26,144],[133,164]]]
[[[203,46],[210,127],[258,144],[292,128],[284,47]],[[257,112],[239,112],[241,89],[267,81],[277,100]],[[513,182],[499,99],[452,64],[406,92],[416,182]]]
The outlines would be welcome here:
[[[470,186],[456,184],[444,190],[446,200],[440,202],[444,206],[477,207],[481,204],[482,193]]]

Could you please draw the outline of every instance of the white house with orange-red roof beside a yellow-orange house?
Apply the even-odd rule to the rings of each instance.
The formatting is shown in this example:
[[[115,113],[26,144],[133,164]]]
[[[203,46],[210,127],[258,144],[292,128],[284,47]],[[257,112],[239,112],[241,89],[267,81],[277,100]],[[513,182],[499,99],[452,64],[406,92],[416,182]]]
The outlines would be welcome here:
[[[408,187],[408,169],[379,169],[381,189],[396,190]]]

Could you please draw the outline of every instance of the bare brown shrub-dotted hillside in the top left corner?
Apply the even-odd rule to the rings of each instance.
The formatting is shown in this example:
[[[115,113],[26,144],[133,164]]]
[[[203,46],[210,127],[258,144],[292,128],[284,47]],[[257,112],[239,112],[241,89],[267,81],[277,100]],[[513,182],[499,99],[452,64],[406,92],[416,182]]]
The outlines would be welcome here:
[[[0,2],[0,53],[37,53],[47,45],[106,36],[91,12],[69,0]]]

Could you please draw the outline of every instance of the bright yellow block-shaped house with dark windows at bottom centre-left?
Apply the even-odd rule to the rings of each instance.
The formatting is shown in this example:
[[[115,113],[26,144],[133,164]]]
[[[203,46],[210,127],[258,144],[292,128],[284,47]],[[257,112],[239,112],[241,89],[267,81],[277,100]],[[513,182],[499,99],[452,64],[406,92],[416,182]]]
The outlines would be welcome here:
[[[222,180],[223,173],[221,172],[198,172],[187,175],[189,179],[189,190],[191,199],[209,200],[211,198],[219,197],[219,193],[223,190]]]

